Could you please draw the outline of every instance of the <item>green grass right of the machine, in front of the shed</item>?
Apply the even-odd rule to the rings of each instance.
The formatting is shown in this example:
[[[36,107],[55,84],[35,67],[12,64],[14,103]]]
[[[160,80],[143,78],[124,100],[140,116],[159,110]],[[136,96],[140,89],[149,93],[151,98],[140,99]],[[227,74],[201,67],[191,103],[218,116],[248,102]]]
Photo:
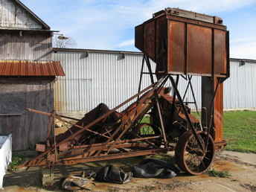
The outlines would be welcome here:
[[[225,112],[226,150],[256,153],[256,112]]]

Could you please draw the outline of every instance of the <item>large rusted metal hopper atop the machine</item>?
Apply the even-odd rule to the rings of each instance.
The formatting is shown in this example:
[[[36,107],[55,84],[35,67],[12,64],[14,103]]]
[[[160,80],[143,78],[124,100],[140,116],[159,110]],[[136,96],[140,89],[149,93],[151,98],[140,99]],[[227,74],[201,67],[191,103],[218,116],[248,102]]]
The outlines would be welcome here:
[[[167,8],[135,28],[135,47],[164,74],[229,76],[229,39],[223,20]]]

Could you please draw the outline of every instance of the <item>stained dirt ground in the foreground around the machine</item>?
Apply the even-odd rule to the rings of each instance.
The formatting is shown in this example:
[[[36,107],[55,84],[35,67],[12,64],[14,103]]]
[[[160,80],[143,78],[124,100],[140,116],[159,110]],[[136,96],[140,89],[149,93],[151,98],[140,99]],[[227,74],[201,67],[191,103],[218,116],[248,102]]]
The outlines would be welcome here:
[[[170,154],[171,158],[172,154]],[[19,170],[16,173],[7,173],[4,177],[4,191],[62,191],[60,179],[68,174],[79,173],[82,170],[97,169],[106,164],[115,164],[124,170],[142,158],[122,159],[108,162],[95,162],[69,167],[55,167],[53,187],[42,188],[42,170],[31,168]],[[228,171],[231,176],[219,178],[208,176],[188,176],[179,173],[173,179],[137,179],[125,185],[95,182],[91,185],[92,191],[256,191],[256,154],[223,151],[216,156],[214,170]]]

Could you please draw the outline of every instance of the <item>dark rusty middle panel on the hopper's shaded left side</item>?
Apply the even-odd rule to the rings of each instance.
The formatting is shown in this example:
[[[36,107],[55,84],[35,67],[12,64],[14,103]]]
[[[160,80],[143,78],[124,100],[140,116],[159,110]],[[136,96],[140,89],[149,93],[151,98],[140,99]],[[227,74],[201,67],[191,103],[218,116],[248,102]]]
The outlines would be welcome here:
[[[144,53],[151,59],[156,60],[156,28],[154,20],[144,25]]]

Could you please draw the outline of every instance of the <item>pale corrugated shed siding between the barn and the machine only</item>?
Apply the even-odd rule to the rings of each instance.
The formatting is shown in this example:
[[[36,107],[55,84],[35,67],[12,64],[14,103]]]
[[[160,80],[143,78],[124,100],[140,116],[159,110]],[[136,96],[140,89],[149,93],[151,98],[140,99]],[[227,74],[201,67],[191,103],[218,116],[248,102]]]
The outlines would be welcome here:
[[[138,92],[141,56],[126,55],[117,60],[118,54],[83,52],[57,52],[54,60],[60,60],[66,76],[55,83],[55,106],[58,111],[89,111],[99,103],[110,108],[127,100]],[[150,85],[144,78],[143,87]]]

